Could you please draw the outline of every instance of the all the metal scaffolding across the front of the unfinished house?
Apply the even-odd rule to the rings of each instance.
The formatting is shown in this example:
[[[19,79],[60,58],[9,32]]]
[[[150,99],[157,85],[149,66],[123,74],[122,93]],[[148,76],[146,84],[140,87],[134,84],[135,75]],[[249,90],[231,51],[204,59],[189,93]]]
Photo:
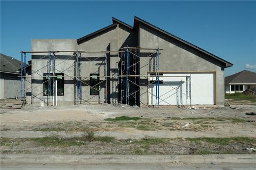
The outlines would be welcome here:
[[[147,56],[140,56],[140,50],[154,50],[154,52],[149,53]],[[40,84],[36,87],[34,87],[34,84],[31,83],[31,98],[38,98],[41,101],[44,101],[48,106],[50,105],[50,99],[52,96],[52,105],[56,106],[57,105],[57,96],[58,96],[58,90],[57,90],[57,77],[56,71],[58,73],[63,73],[61,77],[66,77],[70,78],[74,82],[74,104],[83,104],[83,103],[90,103],[90,100],[95,97],[90,97],[90,98],[83,98],[83,86],[88,86],[90,89],[94,89],[98,91],[98,103],[101,103],[101,89],[103,87],[104,89],[104,102],[106,103],[109,95],[108,91],[108,81],[107,78],[109,79],[114,79],[115,81],[118,81],[118,101],[120,104],[127,104],[127,105],[140,105],[145,103],[140,101],[140,97],[142,95],[148,96],[147,99],[147,106],[159,106],[167,104],[171,105],[166,101],[167,98],[170,98],[173,96],[173,94],[170,95],[170,92],[175,90],[176,100],[177,103],[176,105],[178,107],[183,107],[185,105],[191,106],[191,75],[185,75],[185,76],[170,76],[170,75],[164,75],[160,71],[160,65],[159,65],[159,60],[160,60],[160,51],[163,50],[162,48],[142,48],[142,47],[123,47],[120,48],[118,51],[101,51],[101,52],[84,52],[84,51],[44,51],[44,52],[33,52],[33,51],[22,51],[21,52],[21,96],[24,101],[26,101],[26,78],[46,78],[43,83],[48,84],[47,90],[44,91],[42,89],[36,89]],[[31,74],[38,74],[38,76],[26,76],[26,53],[46,53],[46,55],[42,56],[41,58],[38,58],[37,61],[33,62],[33,64],[38,63],[38,61],[42,59],[46,59],[47,57],[47,74],[42,75],[38,74],[38,70],[44,69],[46,67],[45,65],[39,64],[42,67],[41,68],[36,68],[36,70],[31,69]],[[68,56],[65,60],[59,58],[56,54],[58,53],[73,53],[73,55]],[[94,56],[93,58],[89,56],[82,56],[82,54],[102,54],[101,56]],[[118,58],[119,58],[119,64],[118,64],[118,74],[113,74],[113,75],[108,75],[108,67],[107,67],[107,55],[109,53],[118,53]],[[97,73],[97,77],[99,79],[99,82],[97,84],[90,84],[87,81],[90,82],[90,79],[93,78],[92,76],[88,75],[82,75],[82,69],[87,66],[87,64],[90,64],[92,62],[97,61],[100,57],[103,57],[103,60],[101,63],[95,64],[97,67],[97,70],[92,71],[90,73]],[[67,60],[74,60],[73,64],[67,63]],[[56,61],[59,61],[58,64]],[[82,62],[87,61],[88,63],[84,63],[82,65]],[[141,62],[144,62],[145,64],[142,65],[140,64]],[[64,63],[65,64],[65,69],[64,70],[59,70],[57,69],[57,66]],[[66,67],[66,65],[68,67]],[[143,72],[141,73],[141,69],[143,67],[146,67],[149,65],[149,72]],[[66,70],[70,69],[73,67],[74,69],[74,75],[68,75],[65,73]],[[82,68],[83,67],[83,68]],[[103,75],[100,75],[100,69],[103,67]],[[117,67],[117,66],[116,66]],[[83,71],[84,72],[84,71]],[[160,80],[159,78],[168,78],[168,77],[175,77],[175,78],[186,78],[186,93],[183,92],[182,80],[180,81],[181,84],[177,87],[172,87],[170,84],[167,84],[165,81]],[[101,79],[102,78],[102,79]],[[141,78],[145,78],[148,83],[146,86],[141,86],[140,81]],[[101,80],[100,80],[101,79]],[[101,88],[96,88],[97,86],[101,85]],[[104,84],[104,86],[102,86]],[[161,85],[163,84],[163,85]],[[164,92],[164,94],[161,95],[160,93],[160,86],[168,86],[170,87],[169,91]],[[117,82],[112,84],[112,87],[117,87]],[[33,89],[32,89],[33,88]],[[38,90],[36,95],[34,95],[33,90]],[[141,90],[145,90],[146,92],[141,92]],[[114,91],[114,90],[113,90]],[[45,98],[39,98],[38,96],[40,94],[46,95],[46,101],[44,100]],[[167,95],[167,97],[166,97]],[[186,96],[186,104],[183,101],[183,95]],[[162,97],[165,96],[163,99]],[[155,103],[153,102],[155,101]],[[149,101],[151,103],[149,103]]]

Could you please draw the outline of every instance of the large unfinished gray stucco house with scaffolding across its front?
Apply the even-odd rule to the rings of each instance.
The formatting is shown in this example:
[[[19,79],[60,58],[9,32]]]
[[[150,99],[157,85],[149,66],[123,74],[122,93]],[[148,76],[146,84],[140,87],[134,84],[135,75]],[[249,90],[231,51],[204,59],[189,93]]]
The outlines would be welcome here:
[[[32,53],[31,103],[223,105],[224,70],[233,64],[136,16],[133,27],[112,20],[77,40],[32,40],[23,52]],[[125,47],[135,48],[127,55]]]

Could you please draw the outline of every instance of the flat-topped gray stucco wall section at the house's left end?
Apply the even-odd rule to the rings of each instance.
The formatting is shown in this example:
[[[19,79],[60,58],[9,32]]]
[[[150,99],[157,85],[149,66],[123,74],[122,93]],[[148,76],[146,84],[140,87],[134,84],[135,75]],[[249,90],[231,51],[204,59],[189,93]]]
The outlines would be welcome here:
[[[33,51],[48,50],[77,50],[76,39],[33,39]],[[74,54],[56,53],[55,73],[64,73],[64,96],[58,96],[59,102],[74,102]],[[47,73],[48,53],[33,53],[31,61],[31,101],[37,103],[45,101],[47,96],[43,95],[43,74]],[[68,59],[68,60],[66,60]],[[50,98],[52,102],[52,97]]]

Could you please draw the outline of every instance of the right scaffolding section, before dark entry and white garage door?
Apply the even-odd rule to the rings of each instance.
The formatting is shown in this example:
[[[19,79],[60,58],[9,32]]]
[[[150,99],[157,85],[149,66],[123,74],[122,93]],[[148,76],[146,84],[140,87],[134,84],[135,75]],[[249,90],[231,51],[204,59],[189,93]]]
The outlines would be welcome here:
[[[137,50],[139,49],[146,49],[146,50],[155,50],[154,53],[151,53],[149,54],[148,56],[146,57],[143,57],[141,58],[140,56],[137,55]],[[155,98],[155,104],[156,106],[159,106],[159,103],[160,101],[163,101],[164,103],[168,104],[168,105],[171,105],[169,103],[167,103],[167,101],[165,101],[167,98],[171,97],[172,95],[170,96],[167,96],[165,99],[161,99],[160,97],[162,97],[163,95],[166,95],[167,93],[171,92],[172,90],[177,90],[176,94],[177,94],[177,106],[178,107],[183,107],[183,101],[182,101],[182,95],[184,95],[183,91],[182,91],[182,84],[180,84],[180,86],[176,87],[176,88],[173,88],[172,86],[170,86],[169,84],[165,83],[164,81],[162,81],[162,83],[165,85],[165,86],[169,86],[171,87],[171,90],[165,92],[165,94],[163,95],[159,95],[159,77],[186,77],[186,84],[189,82],[189,94],[188,92],[186,92],[186,105],[188,106],[188,99],[190,99],[190,106],[191,106],[191,75],[189,76],[161,76],[160,75],[160,69],[159,69],[159,56],[160,56],[160,50],[163,50],[162,48],[141,48],[141,47],[123,47],[121,48],[121,80],[120,80],[120,83],[121,83],[121,90],[120,90],[120,102],[123,103],[123,104],[131,104],[130,103],[130,97],[132,96],[134,98],[135,101],[137,101],[137,93],[140,92],[140,90],[144,89],[144,88],[147,88],[147,92],[148,94],[150,95],[151,97],[151,102],[153,101],[153,97]],[[123,52],[124,50],[124,52]],[[135,52],[133,53],[132,50],[135,50]],[[133,56],[133,62],[132,62],[132,65],[130,65],[130,55]],[[155,56],[154,56],[155,55]],[[134,56],[136,58],[139,58],[140,60],[135,60],[134,62]],[[151,58],[149,58],[151,57]],[[145,58],[149,58],[149,62],[146,61]],[[125,61],[126,61],[126,64],[125,64]],[[135,72],[135,75],[131,75],[130,74],[130,67],[134,68],[134,65],[135,67],[137,68],[137,64],[139,64],[141,61],[145,61],[146,64],[145,65],[140,65],[139,66],[139,69],[141,69],[142,67],[145,67],[146,65],[149,65],[149,71],[150,73],[153,73],[153,75],[143,75],[143,74],[139,74],[137,75],[137,71],[134,71]],[[151,63],[151,61],[153,61],[153,63]],[[124,66],[126,65],[126,68],[124,68]],[[153,69],[153,71],[151,71]],[[125,75],[123,74],[125,72]],[[135,77],[134,81],[131,81],[129,78],[130,77]],[[139,83],[137,83],[137,79],[136,78],[141,78],[141,77],[145,77],[148,79],[148,84],[146,87],[141,87],[139,85]],[[124,80],[123,78],[125,78],[126,80],[126,83],[124,83]],[[150,78],[153,78],[153,81],[150,83]],[[181,81],[182,82],[182,81]],[[133,87],[138,87],[139,89],[138,90],[133,90],[132,89],[132,92],[130,90],[130,83],[133,85]],[[151,92],[149,91],[149,87],[152,86],[153,84],[156,84],[155,85],[155,95],[153,94],[153,88],[151,88]],[[186,91],[188,91],[188,86],[186,86]],[[180,94],[180,102],[179,102],[179,94]],[[140,94],[140,96],[143,95],[143,94]],[[123,102],[123,98],[125,97],[125,102]],[[141,102],[140,102],[141,103]],[[134,104],[136,105],[136,102],[134,102]],[[143,103],[141,103],[143,104]],[[149,105],[149,104],[148,104]],[[153,103],[151,103],[152,106]]]

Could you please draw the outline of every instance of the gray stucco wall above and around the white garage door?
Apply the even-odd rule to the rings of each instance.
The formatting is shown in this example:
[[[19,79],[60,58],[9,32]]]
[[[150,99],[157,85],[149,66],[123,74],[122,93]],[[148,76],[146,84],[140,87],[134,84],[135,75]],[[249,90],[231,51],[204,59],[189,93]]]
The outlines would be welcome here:
[[[145,24],[139,26],[139,45],[141,47],[160,47],[159,60],[160,71],[215,71],[217,84],[217,104],[224,103],[224,67],[223,64],[213,58],[206,56],[195,49],[180,43],[179,41],[163,35]],[[140,55],[150,53],[152,50],[140,50]],[[145,55],[146,56],[146,55]],[[149,63],[149,58],[143,58],[140,67]],[[141,74],[147,74],[149,66],[142,67]],[[196,82],[199,83],[199,82]],[[145,89],[146,90],[146,89]],[[144,91],[141,91],[141,94]],[[141,96],[141,102],[147,102],[147,96]]]

